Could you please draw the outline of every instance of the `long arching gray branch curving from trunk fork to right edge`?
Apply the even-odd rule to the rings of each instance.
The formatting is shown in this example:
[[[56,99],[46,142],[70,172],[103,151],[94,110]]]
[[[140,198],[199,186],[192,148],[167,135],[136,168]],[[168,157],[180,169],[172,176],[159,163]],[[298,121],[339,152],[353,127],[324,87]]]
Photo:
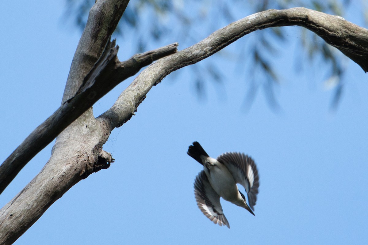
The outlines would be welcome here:
[[[197,63],[255,30],[292,25],[312,30],[367,72],[367,29],[354,25],[342,17],[307,8],[267,10],[233,22],[201,42],[150,65],[120,94],[114,105],[100,118],[112,128],[119,127],[134,115],[152,86],[161,82],[171,72]]]

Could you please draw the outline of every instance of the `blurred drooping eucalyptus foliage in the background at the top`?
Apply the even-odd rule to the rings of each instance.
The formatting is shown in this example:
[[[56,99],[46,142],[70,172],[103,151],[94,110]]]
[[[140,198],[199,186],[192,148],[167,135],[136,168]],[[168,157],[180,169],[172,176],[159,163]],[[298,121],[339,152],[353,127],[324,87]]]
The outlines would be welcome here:
[[[93,1],[89,0],[66,0],[66,16],[74,19],[75,25],[82,30],[92,4]],[[135,52],[142,52],[156,47],[156,44],[162,40],[165,40],[166,43],[179,42],[180,47],[185,48],[198,42],[216,29],[236,21],[239,18],[239,13],[243,14],[240,17],[243,18],[271,8],[306,7],[343,16],[344,9],[349,4],[349,0],[137,0],[130,1],[128,4],[116,33],[123,38],[139,37]],[[187,6],[190,6],[190,9]],[[362,14],[368,19],[367,12],[364,9]],[[208,33],[198,31],[198,25],[202,28],[206,26]],[[246,48],[240,51],[240,58],[233,59],[232,62],[236,63],[234,66],[249,68],[247,78],[244,79],[245,82],[250,82],[250,73],[257,72],[257,76],[253,74],[254,81],[252,82],[263,84],[263,91],[269,96],[269,101],[276,103],[273,87],[265,89],[265,86],[273,86],[278,82],[279,76],[274,68],[273,57],[276,57],[279,45],[287,42],[285,38],[286,29],[264,29],[262,32],[252,33],[252,37],[252,40],[247,41]],[[329,86],[333,84],[332,79],[341,80],[344,69],[341,62],[339,62],[341,59],[341,55],[338,55],[339,52],[332,52],[332,47],[328,46],[320,37],[303,28],[300,28],[300,43],[305,48],[309,63],[314,64],[322,58],[324,66],[330,68]],[[244,59],[245,55],[253,58]],[[302,60],[301,57],[296,59],[298,63]],[[213,64],[203,65],[201,62],[191,66],[193,71],[191,79],[196,84],[197,95],[202,98],[205,92],[205,80],[219,84],[221,80],[226,79],[226,76],[221,75],[224,71],[211,66]],[[319,68],[321,65],[317,63],[316,66]],[[305,66],[302,64],[296,65],[296,69],[302,67]],[[260,73],[263,75],[259,76]],[[324,82],[324,79],[321,78],[319,82]],[[327,82],[325,81],[325,83]],[[260,86],[252,87],[257,90]],[[341,93],[341,90],[339,90],[339,93]],[[254,93],[252,92],[252,94]],[[249,94],[245,96],[249,96]],[[335,97],[340,98],[337,95]],[[247,101],[252,101],[253,98],[252,96]],[[273,108],[276,107],[275,104]]]

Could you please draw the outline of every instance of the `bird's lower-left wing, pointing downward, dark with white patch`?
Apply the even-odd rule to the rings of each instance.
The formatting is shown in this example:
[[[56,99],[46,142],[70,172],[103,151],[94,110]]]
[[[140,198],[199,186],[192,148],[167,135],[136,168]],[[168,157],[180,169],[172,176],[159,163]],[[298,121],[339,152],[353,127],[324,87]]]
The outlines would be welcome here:
[[[198,208],[205,216],[215,224],[226,225],[230,228],[229,222],[222,212],[220,196],[213,190],[203,170],[195,177],[194,194]]]

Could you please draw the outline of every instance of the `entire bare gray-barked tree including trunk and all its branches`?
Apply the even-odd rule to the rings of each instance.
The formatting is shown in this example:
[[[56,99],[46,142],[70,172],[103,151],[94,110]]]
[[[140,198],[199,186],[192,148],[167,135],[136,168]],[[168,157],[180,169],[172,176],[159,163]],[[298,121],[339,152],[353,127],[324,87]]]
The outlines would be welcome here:
[[[134,115],[153,86],[171,72],[209,57],[250,32],[275,26],[303,26],[338,48],[365,72],[368,69],[367,29],[341,17],[305,8],[259,12],[233,22],[177,53],[177,44],[171,44],[134,56],[125,63],[120,62],[116,56],[117,47],[109,39],[127,4],[128,1],[119,0],[96,1],[71,64],[62,109],[57,111],[57,115],[63,116],[53,119],[60,124],[50,120],[46,125],[40,125],[40,130],[27,138],[27,144],[22,143],[9,157],[10,167],[4,165],[7,161],[3,163],[5,167],[1,165],[5,169],[1,172],[0,167],[3,190],[21,168],[59,134],[51,157],[40,173],[0,210],[0,244],[12,244],[74,184],[110,166],[113,159],[102,149],[103,144],[115,127]],[[93,103],[153,60],[158,61],[142,71],[109,110],[98,118],[93,117]],[[132,66],[130,70],[127,68],[129,64]],[[106,89],[101,91],[101,86]],[[68,106],[78,113],[66,113]],[[67,123],[61,131],[57,127],[63,120]],[[27,148],[28,144],[31,144],[30,148]],[[27,156],[22,156],[24,151],[29,151]],[[8,168],[11,172],[6,172]]]

